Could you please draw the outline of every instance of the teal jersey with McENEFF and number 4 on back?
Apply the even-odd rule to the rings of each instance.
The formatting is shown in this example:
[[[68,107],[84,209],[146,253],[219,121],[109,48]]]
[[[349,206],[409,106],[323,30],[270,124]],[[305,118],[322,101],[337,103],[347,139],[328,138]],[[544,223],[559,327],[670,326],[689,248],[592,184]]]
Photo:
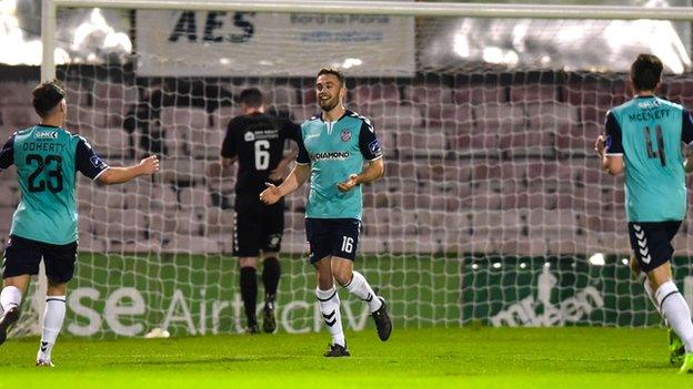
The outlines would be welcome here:
[[[606,114],[606,155],[623,155],[629,222],[682,221],[686,186],[681,142],[693,142],[683,106],[636,96]]]

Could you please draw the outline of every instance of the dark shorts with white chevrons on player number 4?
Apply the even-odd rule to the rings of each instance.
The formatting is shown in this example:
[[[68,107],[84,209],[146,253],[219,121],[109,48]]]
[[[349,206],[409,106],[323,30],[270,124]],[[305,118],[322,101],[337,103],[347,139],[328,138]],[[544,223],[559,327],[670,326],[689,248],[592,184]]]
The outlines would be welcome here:
[[[680,226],[680,221],[629,223],[631,247],[641,270],[647,273],[671,260],[674,254],[671,240]]]

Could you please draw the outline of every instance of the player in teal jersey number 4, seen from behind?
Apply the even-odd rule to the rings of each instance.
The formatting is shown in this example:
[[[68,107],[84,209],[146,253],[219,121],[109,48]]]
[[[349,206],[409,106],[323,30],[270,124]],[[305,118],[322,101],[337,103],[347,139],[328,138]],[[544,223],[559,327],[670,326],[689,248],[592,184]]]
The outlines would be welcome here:
[[[683,342],[681,372],[693,371],[693,323],[685,299],[672,280],[671,240],[686,213],[682,143],[693,142],[693,117],[681,105],[654,95],[662,62],[641,54],[631,65],[635,96],[606,114],[606,136],[595,143],[603,167],[625,172],[625,211],[637,268],[645,290]],[[671,345],[670,345],[671,346]],[[675,350],[672,350],[675,351]]]

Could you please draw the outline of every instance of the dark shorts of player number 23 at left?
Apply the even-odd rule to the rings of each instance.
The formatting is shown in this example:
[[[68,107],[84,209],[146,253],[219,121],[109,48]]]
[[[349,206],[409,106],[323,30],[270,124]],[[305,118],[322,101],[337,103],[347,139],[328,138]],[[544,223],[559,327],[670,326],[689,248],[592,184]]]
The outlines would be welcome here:
[[[77,242],[51,245],[11,235],[4,248],[2,278],[39,274],[41,258],[48,279],[56,284],[67,283],[74,275]]]

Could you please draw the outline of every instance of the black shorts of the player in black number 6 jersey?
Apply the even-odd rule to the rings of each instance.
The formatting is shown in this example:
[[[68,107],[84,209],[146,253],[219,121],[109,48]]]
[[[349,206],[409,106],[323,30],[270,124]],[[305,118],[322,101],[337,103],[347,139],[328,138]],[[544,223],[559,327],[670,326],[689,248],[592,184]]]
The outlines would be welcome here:
[[[258,257],[279,252],[284,234],[284,203],[265,205],[255,198],[237,197],[233,217],[233,255]]]

